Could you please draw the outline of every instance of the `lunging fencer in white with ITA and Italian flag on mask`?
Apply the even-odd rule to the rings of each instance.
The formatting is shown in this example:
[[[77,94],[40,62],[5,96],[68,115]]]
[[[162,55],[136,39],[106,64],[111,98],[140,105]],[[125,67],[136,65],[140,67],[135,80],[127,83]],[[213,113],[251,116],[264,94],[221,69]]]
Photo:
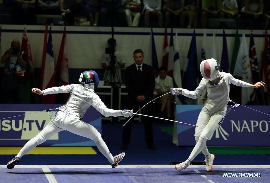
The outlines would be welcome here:
[[[67,130],[74,134],[92,139],[95,141],[98,150],[108,159],[113,168],[115,168],[125,156],[125,152],[113,156],[103,139],[101,134],[91,124],[82,121],[83,115],[90,106],[95,107],[104,116],[125,116],[126,118],[131,115],[130,110],[113,110],[108,109],[101,99],[95,94],[94,89],[98,87],[98,74],[95,71],[82,72],[79,77],[80,84],[71,84],[61,87],[52,87],[41,91],[40,89],[33,88],[32,92],[36,94],[57,94],[57,93],[70,93],[67,102],[59,107],[56,111],[55,117],[48,123],[48,125],[29,140],[20,152],[10,160],[7,168],[11,169],[19,163],[20,158],[27,152],[34,149],[37,145],[42,144],[52,135],[63,130]]]

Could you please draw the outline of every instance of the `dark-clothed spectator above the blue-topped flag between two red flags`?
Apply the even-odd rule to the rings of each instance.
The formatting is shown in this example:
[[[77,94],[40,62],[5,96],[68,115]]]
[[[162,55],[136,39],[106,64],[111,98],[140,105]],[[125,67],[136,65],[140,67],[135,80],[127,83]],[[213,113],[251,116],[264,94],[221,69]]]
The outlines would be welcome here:
[[[38,0],[37,6],[43,14],[58,14],[60,12],[60,1],[57,0]]]

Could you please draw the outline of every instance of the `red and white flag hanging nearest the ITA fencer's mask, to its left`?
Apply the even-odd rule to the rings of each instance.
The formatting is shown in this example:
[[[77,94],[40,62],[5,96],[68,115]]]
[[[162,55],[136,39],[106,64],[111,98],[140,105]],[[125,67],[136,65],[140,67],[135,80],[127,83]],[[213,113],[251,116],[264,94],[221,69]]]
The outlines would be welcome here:
[[[65,45],[66,45],[66,27],[64,27],[64,32],[62,36],[62,41],[61,41],[56,69],[55,69],[56,86],[69,84],[68,60],[67,60],[67,55],[65,51]],[[64,96],[68,97],[69,94],[64,94]]]

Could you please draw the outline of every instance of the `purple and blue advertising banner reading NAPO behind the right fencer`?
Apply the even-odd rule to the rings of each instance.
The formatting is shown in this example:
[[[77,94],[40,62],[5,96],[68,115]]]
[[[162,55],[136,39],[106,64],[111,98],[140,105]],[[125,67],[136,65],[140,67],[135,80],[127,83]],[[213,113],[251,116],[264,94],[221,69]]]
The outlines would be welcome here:
[[[230,107],[228,106],[228,109]],[[247,107],[266,114],[270,113],[270,106]],[[177,105],[177,121],[195,125],[201,109],[202,105]],[[209,137],[207,146],[270,146],[270,116],[252,109],[244,106],[231,109],[218,129]],[[178,139],[176,145],[196,144],[194,126],[177,123],[175,127]]]

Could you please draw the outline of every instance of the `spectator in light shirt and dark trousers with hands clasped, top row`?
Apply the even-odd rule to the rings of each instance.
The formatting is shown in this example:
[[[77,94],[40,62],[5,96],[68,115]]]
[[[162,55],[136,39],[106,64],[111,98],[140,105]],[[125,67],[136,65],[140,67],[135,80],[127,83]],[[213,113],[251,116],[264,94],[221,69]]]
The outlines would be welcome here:
[[[158,25],[159,27],[162,27],[162,13],[161,13],[161,0],[143,0],[143,11],[145,13],[144,15],[144,21],[145,26],[149,27],[149,16],[150,13],[154,16],[158,16]]]

